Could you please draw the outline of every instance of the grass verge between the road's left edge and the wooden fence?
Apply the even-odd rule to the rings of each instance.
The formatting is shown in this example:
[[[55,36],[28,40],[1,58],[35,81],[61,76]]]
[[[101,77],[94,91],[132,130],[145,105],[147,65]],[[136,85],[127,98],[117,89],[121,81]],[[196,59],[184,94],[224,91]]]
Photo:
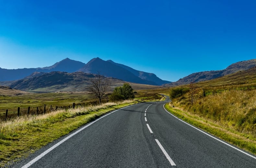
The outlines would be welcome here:
[[[99,106],[58,110],[39,116],[24,116],[0,123],[0,167],[6,167],[109,111],[139,101],[105,103]]]

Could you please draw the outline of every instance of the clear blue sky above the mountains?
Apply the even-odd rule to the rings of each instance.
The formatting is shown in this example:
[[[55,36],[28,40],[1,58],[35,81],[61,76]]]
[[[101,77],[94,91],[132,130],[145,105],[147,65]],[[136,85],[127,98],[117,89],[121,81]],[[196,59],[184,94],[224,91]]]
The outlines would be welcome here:
[[[159,78],[256,58],[255,0],[0,0],[0,67],[99,57]]]

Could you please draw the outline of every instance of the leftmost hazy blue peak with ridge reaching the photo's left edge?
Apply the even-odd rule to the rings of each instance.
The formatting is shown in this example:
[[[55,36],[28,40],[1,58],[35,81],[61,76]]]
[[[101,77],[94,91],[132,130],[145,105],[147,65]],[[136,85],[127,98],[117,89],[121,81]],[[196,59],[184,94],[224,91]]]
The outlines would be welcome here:
[[[33,72],[51,72],[51,71],[75,72],[78,69],[82,68],[84,65],[85,63],[66,58],[60,62],[55,63],[50,67],[44,67],[44,68],[22,68],[22,69],[0,68],[0,81],[22,79],[29,76]]]

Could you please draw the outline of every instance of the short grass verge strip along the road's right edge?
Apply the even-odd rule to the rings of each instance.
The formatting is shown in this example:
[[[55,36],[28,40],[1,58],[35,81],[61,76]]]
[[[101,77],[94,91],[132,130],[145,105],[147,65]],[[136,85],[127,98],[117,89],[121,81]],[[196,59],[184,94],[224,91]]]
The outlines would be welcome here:
[[[191,115],[188,112],[179,110],[178,108],[172,108],[169,104],[165,104],[165,108],[183,121],[209,132],[224,141],[236,145],[245,151],[256,154],[256,139],[254,136],[251,136],[250,134],[242,134],[235,130],[228,130],[217,123],[204,120],[203,118]]]

